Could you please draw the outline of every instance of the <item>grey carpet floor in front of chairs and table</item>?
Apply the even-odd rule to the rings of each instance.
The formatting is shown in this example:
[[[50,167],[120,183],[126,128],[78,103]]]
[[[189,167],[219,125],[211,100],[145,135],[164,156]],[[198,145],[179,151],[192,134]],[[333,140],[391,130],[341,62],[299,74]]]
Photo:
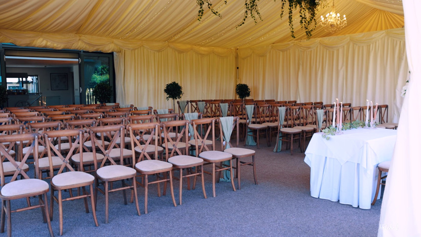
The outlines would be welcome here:
[[[242,146],[240,146],[242,147]],[[241,190],[232,191],[230,183],[216,184],[212,197],[209,175],[205,176],[205,199],[200,182],[195,190],[183,190],[183,204],[174,207],[169,195],[157,197],[150,187],[148,214],[144,214],[144,189],[138,187],[141,216],[134,203],[123,204],[121,192],[110,196],[109,224],[104,224],[104,196],[99,194],[95,227],[92,214],[85,213],[83,201],[64,203],[64,234],[68,237],[184,236],[184,237],[375,237],[377,236],[381,199],[370,210],[311,197],[310,168],[299,149],[293,156],[287,151],[273,153],[273,147],[257,151],[258,185],[251,167],[243,167]],[[205,168],[206,170],[209,167]],[[178,181],[174,181],[178,204]],[[236,185],[236,180],[235,180]],[[161,186],[162,189],[162,186]],[[67,195],[67,194],[66,194]],[[33,198],[33,202],[36,199]],[[25,200],[12,202],[12,208],[24,206]],[[59,236],[58,206],[54,205],[52,228]],[[6,233],[0,234],[6,236]],[[39,209],[12,213],[12,236],[49,236]]]

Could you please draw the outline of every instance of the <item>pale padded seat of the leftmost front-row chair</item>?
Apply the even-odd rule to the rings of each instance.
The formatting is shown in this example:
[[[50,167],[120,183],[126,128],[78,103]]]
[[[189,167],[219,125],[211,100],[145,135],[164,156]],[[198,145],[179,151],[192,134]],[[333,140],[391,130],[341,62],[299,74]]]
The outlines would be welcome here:
[[[1,196],[13,197],[25,194],[48,192],[50,186],[47,182],[40,179],[20,179],[1,188]]]

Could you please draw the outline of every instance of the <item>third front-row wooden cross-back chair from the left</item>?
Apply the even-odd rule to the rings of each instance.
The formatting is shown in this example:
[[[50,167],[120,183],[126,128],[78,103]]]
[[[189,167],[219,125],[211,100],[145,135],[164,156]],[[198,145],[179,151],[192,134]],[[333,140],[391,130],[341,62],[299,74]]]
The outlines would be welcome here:
[[[117,140],[124,141],[124,130],[125,127],[122,124],[102,125],[89,129],[92,147],[98,147],[98,150],[92,150],[97,177],[95,180],[95,197],[98,196],[98,191],[105,195],[105,223],[108,223],[109,219],[108,206],[109,193],[111,192],[123,191],[124,204],[127,204],[126,190],[131,190],[131,195],[135,199],[137,214],[140,215],[136,190],[136,170],[133,168],[134,156],[132,156],[132,150],[127,150],[123,144],[118,145],[116,143]],[[101,136],[98,137],[98,134],[101,134]],[[110,141],[108,146],[104,145],[105,136]],[[99,166],[97,154],[104,156],[104,159],[99,162]],[[131,180],[131,184],[126,183],[126,179]],[[116,181],[121,181],[121,187],[110,186]],[[104,190],[100,189],[101,184]]]

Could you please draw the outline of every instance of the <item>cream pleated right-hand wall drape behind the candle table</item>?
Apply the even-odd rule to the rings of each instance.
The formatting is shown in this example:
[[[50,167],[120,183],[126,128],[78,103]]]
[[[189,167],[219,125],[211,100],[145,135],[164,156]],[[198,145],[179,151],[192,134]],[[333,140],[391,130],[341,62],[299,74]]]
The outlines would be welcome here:
[[[409,77],[404,29],[240,48],[239,77],[254,99],[389,105],[397,122]],[[271,87],[278,86],[277,90]]]

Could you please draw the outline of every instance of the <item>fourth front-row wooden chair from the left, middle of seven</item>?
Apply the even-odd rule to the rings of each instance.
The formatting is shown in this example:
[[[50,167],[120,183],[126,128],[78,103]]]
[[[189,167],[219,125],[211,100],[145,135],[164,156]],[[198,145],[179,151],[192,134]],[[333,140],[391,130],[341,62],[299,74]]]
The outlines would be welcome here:
[[[165,195],[167,183],[169,182],[171,198],[174,206],[177,206],[174,198],[173,179],[171,172],[172,164],[163,160],[158,160],[159,127],[159,123],[156,122],[127,125],[130,134],[132,156],[134,160],[137,157],[135,169],[141,176],[145,177],[145,214],[148,213],[148,191],[150,184],[157,184],[158,197],[160,197],[161,191],[159,184],[164,184],[163,195]],[[144,135],[138,135],[139,132],[145,133],[145,131],[151,131],[148,139],[144,139]],[[137,137],[140,137],[142,141]],[[167,177],[167,173],[169,173],[169,177]],[[162,174],[162,176],[159,174]],[[150,175],[156,175],[156,180],[150,181]]]

